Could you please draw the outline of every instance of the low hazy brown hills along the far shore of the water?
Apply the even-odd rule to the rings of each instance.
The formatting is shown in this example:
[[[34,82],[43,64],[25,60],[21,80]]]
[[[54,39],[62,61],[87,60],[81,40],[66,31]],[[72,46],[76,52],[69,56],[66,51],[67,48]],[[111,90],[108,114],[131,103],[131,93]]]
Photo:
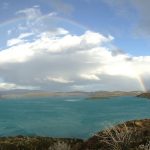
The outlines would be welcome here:
[[[84,91],[72,91],[72,92],[50,92],[39,90],[10,90],[0,91],[0,98],[21,98],[21,97],[43,97],[43,96],[86,96],[90,99],[100,99],[113,96],[137,96],[142,92],[140,91],[96,91],[96,92],[84,92]]]

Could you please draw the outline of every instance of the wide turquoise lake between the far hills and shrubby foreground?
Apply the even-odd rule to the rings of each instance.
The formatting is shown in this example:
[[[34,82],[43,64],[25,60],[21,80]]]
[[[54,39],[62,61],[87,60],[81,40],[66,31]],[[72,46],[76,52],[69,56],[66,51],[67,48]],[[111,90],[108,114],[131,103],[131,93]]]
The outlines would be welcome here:
[[[136,97],[0,100],[0,136],[88,138],[110,124],[142,118],[150,118],[150,100]]]

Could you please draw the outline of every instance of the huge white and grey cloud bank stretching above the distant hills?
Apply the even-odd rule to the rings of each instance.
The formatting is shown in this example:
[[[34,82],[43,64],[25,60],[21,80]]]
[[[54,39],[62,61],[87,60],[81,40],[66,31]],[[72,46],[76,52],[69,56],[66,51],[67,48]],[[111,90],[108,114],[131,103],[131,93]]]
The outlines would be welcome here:
[[[16,40],[22,42],[8,42],[0,51],[0,89],[144,90],[140,79],[148,81],[150,56],[132,57],[120,50],[114,55],[112,36],[56,28],[34,33],[30,41],[32,34],[21,34]]]

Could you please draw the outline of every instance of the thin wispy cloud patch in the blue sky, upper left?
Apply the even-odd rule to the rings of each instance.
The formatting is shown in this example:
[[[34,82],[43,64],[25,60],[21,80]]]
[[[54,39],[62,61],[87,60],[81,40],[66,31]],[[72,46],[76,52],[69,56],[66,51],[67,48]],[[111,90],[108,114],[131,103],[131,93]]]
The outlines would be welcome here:
[[[45,30],[55,30],[56,22],[53,17],[57,16],[57,12],[44,14],[40,7],[35,5],[31,8],[19,10],[15,13],[17,17],[25,19],[25,22],[20,22],[17,29],[19,31],[31,31],[33,33],[41,33]],[[53,22],[54,20],[54,22]]]

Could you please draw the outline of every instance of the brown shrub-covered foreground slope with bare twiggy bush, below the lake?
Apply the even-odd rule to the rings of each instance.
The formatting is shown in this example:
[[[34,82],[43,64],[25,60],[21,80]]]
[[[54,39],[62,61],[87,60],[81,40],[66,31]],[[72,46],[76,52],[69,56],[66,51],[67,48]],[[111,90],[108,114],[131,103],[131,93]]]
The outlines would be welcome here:
[[[82,139],[1,137],[0,150],[149,150],[150,119],[128,121]]]

